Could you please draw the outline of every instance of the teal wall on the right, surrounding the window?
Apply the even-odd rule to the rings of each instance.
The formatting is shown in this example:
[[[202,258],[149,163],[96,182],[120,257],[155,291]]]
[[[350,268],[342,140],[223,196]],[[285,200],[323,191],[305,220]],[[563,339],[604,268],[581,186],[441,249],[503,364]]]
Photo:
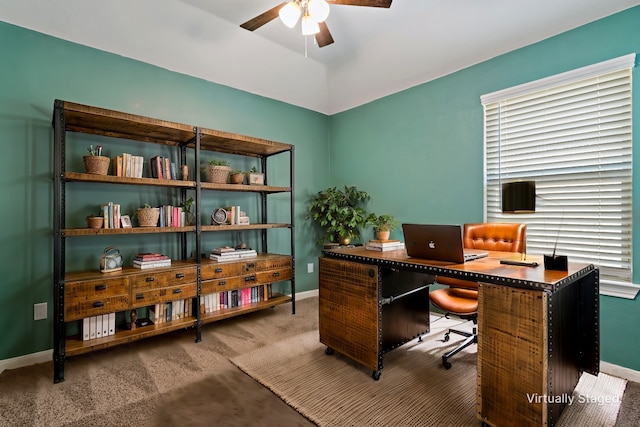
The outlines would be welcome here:
[[[331,116],[333,183],[356,184],[371,209],[403,222],[465,223],[483,219],[483,110],[496,90],[640,52],[640,7],[593,22],[459,72]],[[636,64],[638,59],[636,59]],[[633,72],[640,105],[640,68]],[[640,140],[640,114],[634,116]],[[366,153],[363,155],[363,153]],[[634,150],[634,165],[638,150]],[[639,169],[634,169],[634,181]],[[634,186],[634,217],[640,214]],[[634,220],[634,223],[636,221]],[[396,230],[395,237],[401,237]],[[392,235],[392,238],[394,235]],[[634,242],[640,243],[635,229]],[[634,257],[634,282],[640,259]],[[601,358],[640,370],[640,299],[603,296]]]

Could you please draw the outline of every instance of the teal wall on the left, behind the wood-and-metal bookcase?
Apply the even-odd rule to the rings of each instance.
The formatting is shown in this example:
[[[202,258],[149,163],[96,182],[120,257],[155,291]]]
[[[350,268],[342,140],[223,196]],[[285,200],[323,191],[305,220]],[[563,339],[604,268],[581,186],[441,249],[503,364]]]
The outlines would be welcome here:
[[[0,360],[53,345],[54,99],[295,144],[296,286],[298,291],[317,288],[317,268],[308,274],[306,265],[317,266],[318,248],[305,237],[303,210],[309,194],[330,184],[326,115],[2,22],[0,40]],[[81,165],[85,146],[97,140],[76,135],[70,140],[72,169]],[[118,141],[102,144],[111,148],[110,155],[124,151]],[[232,166],[240,167],[235,161]],[[71,185],[69,226],[82,226],[84,216],[116,195],[127,207],[147,197],[144,189],[139,195],[139,189],[126,186],[103,186],[98,193],[95,186]],[[287,206],[274,210],[288,213]],[[163,245],[173,242],[168,239],[162,237]],[[96,268],[102,249],[110,244],[119,246],[126,259],[137,249],[153,248],[155,241],[139,236],[69,239],[67,265]],[[48,302],[48,319],[34,322],[33,304],[40,302]]]

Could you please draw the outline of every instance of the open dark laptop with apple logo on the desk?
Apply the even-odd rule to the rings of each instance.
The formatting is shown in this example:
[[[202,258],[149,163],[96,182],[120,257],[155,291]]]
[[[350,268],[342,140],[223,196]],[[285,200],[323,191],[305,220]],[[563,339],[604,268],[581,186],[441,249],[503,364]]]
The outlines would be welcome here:
[[[412,258],[462,264],[489,256],[485,250],[462,246],[459,225],[402,224],[402,232],[407,255]]]

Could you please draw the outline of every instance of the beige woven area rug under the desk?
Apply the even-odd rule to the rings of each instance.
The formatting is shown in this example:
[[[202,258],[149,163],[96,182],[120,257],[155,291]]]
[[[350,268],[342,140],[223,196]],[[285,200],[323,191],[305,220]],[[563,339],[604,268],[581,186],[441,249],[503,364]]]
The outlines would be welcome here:
[[[317,330],[231,362],[319,426],[477,427],[475,349],[452,358],[450,370],[441,366],[442,353],[456,344],[433,335],[411,341],[384,356],[378,381],[347,357],[325,354]],[[625,384],[583,375],[558,425],[613,426]]]

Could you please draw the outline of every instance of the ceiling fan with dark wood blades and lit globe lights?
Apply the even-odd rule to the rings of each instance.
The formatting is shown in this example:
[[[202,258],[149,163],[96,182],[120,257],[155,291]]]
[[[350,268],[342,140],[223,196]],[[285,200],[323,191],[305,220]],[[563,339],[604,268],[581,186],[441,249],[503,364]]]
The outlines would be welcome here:
[[[255,31],[267,22],[280,16],[280,19],[289,28],[293,28],[300,16],[302,16],[302,34],[315,35],[319,47],[328,46],[333,43],[333,37],[325,23],[329,14],[329,4],[340,4],[345,6],[368,6],[368,7],[391,7],[392,0],[292,0],[267,10],[241,24],[245,30]],[[324,3],[324,5],[322,5]],[[318,4],[322,10],[318,10]],[[315,8],[314,8],[315,7]],[[314,16],[321,19],[314,19]]]

